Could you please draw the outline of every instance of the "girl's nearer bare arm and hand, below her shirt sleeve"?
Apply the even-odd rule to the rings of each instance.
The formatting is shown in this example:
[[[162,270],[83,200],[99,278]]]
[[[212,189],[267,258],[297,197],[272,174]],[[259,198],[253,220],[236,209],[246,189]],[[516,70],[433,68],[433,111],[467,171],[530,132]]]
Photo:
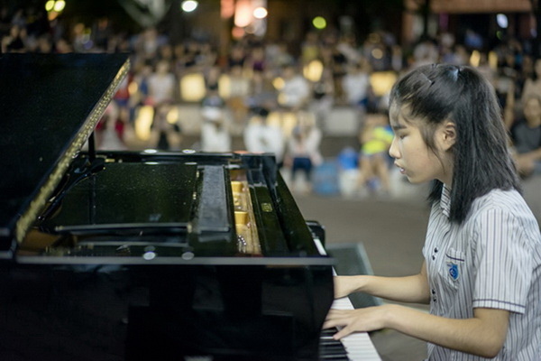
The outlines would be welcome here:
[[[358,310],[331,310],[324,328],[335,326],[344,326],[335,334],[336,339],[354,331],[388,328],[442,347],[494,357],[505,342],[509,311],[474,309],[471,319],[447,319],[389,304]]]

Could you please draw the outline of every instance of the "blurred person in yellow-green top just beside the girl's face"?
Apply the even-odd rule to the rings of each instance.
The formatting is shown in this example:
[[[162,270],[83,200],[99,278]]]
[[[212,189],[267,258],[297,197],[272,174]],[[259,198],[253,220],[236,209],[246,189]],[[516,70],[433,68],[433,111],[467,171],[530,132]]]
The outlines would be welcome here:
[[[381,190],[389,192],[388,152],[393,133],[389,119],[384,114],[366,117],[366,123],[360,134],[361,157],[359,185],[366,186],[371,192]],[[379,184],[378,184],[379,183]],[[380,188],[381,187],[381,188]]]

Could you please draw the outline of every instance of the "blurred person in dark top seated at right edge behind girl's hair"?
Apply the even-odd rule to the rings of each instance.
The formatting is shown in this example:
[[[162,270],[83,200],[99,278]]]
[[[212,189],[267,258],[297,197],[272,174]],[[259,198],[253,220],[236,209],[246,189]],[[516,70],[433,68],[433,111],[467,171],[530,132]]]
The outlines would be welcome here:
[[[527,177],[541,174],[541,97],[527,97],[523,113],[511,126],[511,137],[518,172]]]

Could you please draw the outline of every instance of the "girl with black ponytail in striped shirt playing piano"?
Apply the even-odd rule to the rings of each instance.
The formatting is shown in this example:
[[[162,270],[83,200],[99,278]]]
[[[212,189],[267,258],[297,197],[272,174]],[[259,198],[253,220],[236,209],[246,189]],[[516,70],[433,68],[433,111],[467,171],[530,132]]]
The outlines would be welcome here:
[[[429,360],[541,359],[541,235],[520,195],[500,106],[474,69],[428,65],[392,88],[390,155],[412,183],[434,180],[420,273],[338,276],[367,292],[430,303],[331,310],[325,328],[390,328],[428,342]]]

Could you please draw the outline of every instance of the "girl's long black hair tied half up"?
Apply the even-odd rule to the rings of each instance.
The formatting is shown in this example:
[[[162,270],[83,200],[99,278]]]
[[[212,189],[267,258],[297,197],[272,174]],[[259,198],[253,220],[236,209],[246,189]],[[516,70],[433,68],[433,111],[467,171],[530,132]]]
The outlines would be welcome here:
[[[491,190],[520,191],[500,104],[494,88],[477,70],[448,64],[419,67],[394,85],[390,104],[408,106],[410,116],[425,122],[421,133],[434,153],[436,126],[454,122],[451,221],[463,223],[473,200]],[[441,199],[442,188],[443,183],[435,180],[428,195],[431,203]]]

